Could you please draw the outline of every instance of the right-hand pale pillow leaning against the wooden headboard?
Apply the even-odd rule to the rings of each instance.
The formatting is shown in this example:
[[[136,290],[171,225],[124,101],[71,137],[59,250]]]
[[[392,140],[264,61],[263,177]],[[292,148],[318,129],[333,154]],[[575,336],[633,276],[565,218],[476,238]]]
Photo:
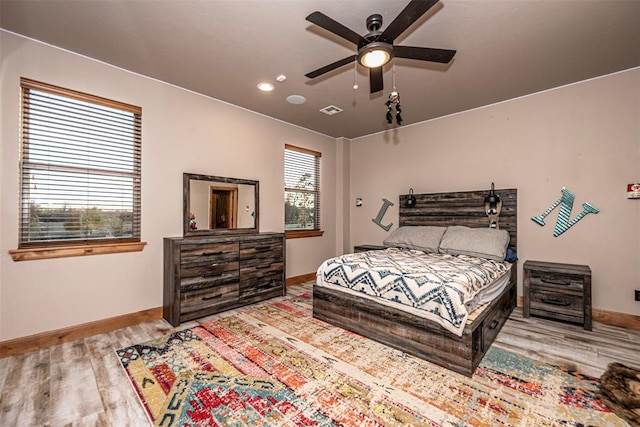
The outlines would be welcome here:
[[[442,236],[440,252],[504,261],[507,246],[509,246],[507,230],[454,225],[447,227],[447,231]]]

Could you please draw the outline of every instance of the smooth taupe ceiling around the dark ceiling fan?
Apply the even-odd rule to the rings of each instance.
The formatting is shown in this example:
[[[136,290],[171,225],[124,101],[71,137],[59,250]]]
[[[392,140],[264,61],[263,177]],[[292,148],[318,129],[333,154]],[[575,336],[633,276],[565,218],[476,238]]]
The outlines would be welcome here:
[[[305,20],[320,11],[358,34],[408,0],[1,0],[8,31],[96,58],[332,137],[397,125],[385,89],[354,65],[304,75],[356,53]],[[640,0],[441,0],[395,44],[455,49],[449,65],[396,58],[404,125],[640,66]],[[287,76],[279,83],[276,77]],[[275,90],[259,92],[261,81]],[[292,105],[286,97],[302,95]],[[327,116],[329,105],[344,111]],[[403,125],[403,126],[404,126]]]

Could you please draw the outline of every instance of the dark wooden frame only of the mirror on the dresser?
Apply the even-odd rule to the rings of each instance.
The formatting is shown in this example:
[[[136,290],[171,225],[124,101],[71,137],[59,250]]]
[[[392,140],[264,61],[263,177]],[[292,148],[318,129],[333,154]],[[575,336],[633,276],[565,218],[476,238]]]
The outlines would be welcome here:
[[[212,182],[222,182],[226,184],[244,184],[244,185],[253,185],[255,186],[255,223],[253,228],[216,228],[216,229],[204,229],[204,230],[189,230],[189,213],[191,212],[191,201],[189,195],[191,190],[191,180],[198,181],[212,181]],[[187,173],[184,172],[182,174],[182,234],[184,237],[188,236],[211,236],[211,235],[224,235],[224,234],[256,234],[258,233],[259,227],[259,207],[260,207],[260,191],[259,191],[259,181],[253,181],[250,179],[240,179],[240,178],[228,178],[224,176],[213,176],[213,175],[200,175],[195,173]]]

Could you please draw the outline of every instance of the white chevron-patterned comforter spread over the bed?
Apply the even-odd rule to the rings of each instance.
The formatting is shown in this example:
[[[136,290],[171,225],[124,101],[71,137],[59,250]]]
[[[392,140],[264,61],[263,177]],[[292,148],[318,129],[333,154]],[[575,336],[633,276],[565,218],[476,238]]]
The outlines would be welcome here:
[[[465,303],[507,270],[506,263],[484,258],[387,248],[326,260],[317,285],[375,298],[461,336]]]

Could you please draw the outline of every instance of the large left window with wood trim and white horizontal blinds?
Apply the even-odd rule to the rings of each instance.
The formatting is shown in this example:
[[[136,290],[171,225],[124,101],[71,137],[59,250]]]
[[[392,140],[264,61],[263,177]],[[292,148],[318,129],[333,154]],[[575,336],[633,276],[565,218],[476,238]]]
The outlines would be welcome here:
[[[24,78],[21,90],[19,250],[140,242],[141,109]]]

